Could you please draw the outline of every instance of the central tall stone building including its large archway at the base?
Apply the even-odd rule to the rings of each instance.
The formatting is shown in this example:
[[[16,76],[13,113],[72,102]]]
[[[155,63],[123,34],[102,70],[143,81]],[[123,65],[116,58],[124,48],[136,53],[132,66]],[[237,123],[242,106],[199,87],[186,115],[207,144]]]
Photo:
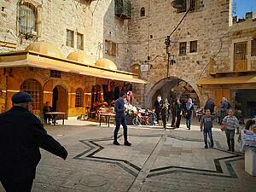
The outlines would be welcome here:
[[[228,67],[229,1],[186,0],[175,9],[171,1],[141,0],[131,1],[131,7],[131,65],[142,67],[141,77],[150,81],[140,86],[143,94],[137,97],[148,108],[159,94],[192,96],[202,106],[210,93],[196,82],[208,76],[211,61],[220,70]],[[171,41],[168,65],[167,36]]]

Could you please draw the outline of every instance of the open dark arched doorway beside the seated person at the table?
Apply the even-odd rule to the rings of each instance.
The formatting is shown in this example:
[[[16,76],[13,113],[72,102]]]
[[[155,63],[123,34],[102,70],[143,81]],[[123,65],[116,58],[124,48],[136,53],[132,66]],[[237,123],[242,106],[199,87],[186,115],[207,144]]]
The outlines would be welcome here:
[[[65,112],[67,118],[67,90],[59,84],[53,89],[52,108],[58,112]]]

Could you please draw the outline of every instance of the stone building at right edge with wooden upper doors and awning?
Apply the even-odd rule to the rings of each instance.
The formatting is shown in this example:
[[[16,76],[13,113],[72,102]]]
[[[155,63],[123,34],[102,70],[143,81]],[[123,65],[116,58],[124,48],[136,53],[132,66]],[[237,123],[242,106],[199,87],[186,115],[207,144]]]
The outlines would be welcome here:
[[[209,67],[211,78],[200,79],[201,90],[209,91],[219,102],[225,96],[244,117],[256,115],[256,16],[249,12],[245,19],[233,18],[228,31],[229,62],[224,69],[214,61]]]

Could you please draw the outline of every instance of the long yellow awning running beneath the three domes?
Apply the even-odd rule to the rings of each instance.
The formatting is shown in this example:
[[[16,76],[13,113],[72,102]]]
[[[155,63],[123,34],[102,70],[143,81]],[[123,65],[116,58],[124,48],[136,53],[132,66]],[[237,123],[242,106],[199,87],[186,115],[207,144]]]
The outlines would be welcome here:
[[[135,73],[84,65],[84,63],[78,61],[57,58],[30,50],[0,54],[0,67],[38,67],[102,79],[113,79],[137,84],[148,83],[143,79],[138,79],[138,75]]]

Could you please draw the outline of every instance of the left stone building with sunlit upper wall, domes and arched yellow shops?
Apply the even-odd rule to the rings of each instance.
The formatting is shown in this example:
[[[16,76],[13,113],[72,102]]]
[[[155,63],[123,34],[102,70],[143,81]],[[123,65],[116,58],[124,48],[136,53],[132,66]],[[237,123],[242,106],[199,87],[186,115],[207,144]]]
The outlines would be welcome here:
[[[128,41],[128,21],[115,15],[114,1],[0,4],[0,112],[11,107],[15,92],[26,90],[38,115],[49,101],[75,116],[91,106],[93,86],[145,83],[125,72],[128,44],[118,43]],[[102,100],[102,92],[94,91]]]

